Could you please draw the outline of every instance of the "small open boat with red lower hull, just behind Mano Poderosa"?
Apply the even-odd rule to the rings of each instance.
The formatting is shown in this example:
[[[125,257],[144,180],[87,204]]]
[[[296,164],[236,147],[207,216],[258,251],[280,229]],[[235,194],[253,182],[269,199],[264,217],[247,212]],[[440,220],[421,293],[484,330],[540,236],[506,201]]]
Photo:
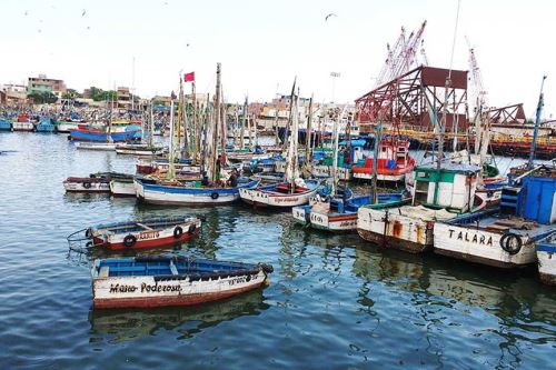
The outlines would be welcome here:
[[[88,248],[156,248],[185,242],[197,236],[200,228],[201,218],[198,217],[156,218],[99,224],[73,232],[67,239],[70,248],[83,240],[88,240]]]

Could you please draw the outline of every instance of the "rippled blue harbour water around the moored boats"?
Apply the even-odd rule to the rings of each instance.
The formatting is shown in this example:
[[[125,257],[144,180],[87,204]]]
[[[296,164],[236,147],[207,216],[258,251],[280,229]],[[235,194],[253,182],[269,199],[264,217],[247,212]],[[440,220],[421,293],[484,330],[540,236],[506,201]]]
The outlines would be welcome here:
[[[0,133],[0,369],[554,368],[556,290],[535,271],[383,252],[357,234],[241,206],[153,208],[64,194],[62,180],[131,171],[64,136]],[[91,310],[88,261],[66,236],[89,224],[205,214],[168,253],[265,261],[271,284],[199,308]]]

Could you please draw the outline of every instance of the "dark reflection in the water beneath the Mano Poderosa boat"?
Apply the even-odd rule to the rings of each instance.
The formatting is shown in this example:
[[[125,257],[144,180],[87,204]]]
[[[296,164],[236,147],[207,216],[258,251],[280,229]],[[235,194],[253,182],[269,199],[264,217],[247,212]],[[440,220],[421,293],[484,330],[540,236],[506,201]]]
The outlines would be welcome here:
[[[118,343],[171,331],[177,340],[188,339],[245,316],[258,316],[270,304],[265,302],[262,290],[255,290],[235,298],[202,306],[158,308],[149,310],[91,310],[90,341]]]

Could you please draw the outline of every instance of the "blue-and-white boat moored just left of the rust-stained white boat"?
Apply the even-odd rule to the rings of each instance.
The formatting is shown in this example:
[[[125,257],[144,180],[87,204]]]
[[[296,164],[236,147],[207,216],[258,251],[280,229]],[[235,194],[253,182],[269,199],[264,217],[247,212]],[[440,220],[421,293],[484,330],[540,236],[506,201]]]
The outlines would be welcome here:
[[[297,223],[310,226],[314,229],[326,231],[353,231],[357,229],[357,211],[361,207],[385,209],[407,204],[410,198],[404,193],[377,194],[377,203],[371,204],[370,196],[353,197],[344,200],[332,198],[330,201],[312,206],[294,207],[291,212]]]

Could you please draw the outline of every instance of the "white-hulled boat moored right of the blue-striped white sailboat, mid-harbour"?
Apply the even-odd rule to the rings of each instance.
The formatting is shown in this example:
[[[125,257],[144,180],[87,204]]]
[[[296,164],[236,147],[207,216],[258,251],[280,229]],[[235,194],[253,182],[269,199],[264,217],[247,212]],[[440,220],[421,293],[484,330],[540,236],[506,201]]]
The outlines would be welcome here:
[[[302,181],[295,184],[275,183],[256,189],[240,189],[239,197],[242,201],[254,207],[291,208],[307,204],[319,188],[318,181]]]

